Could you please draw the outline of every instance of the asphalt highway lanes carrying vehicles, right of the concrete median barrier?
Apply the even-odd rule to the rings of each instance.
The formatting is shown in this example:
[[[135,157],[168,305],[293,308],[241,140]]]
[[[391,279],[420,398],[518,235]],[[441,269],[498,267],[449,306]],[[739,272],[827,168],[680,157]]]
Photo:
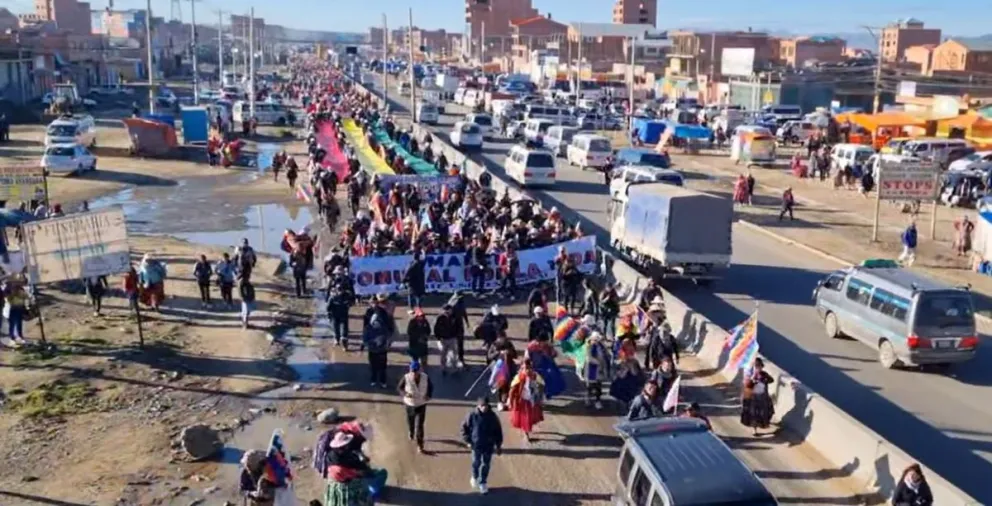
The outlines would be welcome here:
[[[377,86],[381,90],[381,84]],[[393,104],[399,106],[398,112],[407,111],[409,100],[397,97],[395,88],[389,91],[391,99],[400,99]],[[442,117],[435,132],[446,138],[455,120]],[[487,142],[473,158],[504,177],[503,160],[511,146]],[[689,168],[692,186],[691,167],[705,160],[676,157],[675,163],[684,162],[683,168]],[[558,206],[566,216],[574,212],[586,232],[596,234],[600,244],[608,244],[605,211],[609,197],[602,175],[559,160],[557,176],[553,189],[531,193],[545,205]],[[735,226],[733,267],[726,277],[712,289],[675,286],[672,291],[724,328],[739,323],[759,304],[759,341],[765,357],[982,503],[992,504],[988,481],[992,476],[992,350],[981,349],[975,360],[950,373],[882,369],[873,350],[824,336],[810,295],[816,281],[835,268],[820,257]]]

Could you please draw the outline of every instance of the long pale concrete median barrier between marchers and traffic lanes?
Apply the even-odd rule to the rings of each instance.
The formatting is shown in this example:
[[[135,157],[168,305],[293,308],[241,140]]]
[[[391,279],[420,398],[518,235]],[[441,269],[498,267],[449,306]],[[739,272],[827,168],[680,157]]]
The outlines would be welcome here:
[[[381,101],[380,95],[375,92],[372,94]],[[413,125],[413,131],[418,139],[430,135],[433,138],[435,151],[440,148],[449,161],[463,167],[469,178],[478,179],[478,176],[485,171],[482,165],[468,159],[451,146],[448,139],[434,135],[416,124]],[[497,192],[502,193],[504,189],[509,188],[512,199],[526,198],[542,204],[540,199],[510,185],[496,174],[490,173],[490,175],[491,187]],[[607,275],[611,281],[617,283],[620,296],[627,303],[636,300],[637,295],[647,285],[648,278],[622,259],[602,251],[600,253],[606,259],[604,263],[609,266]],[[668,319],[682,348],[693,353],[710,369],[711,374],[717,375],[723,382],[739,384],[739,374],[736,371],[727,373],[723,370],[727,361],[725,349],[727,331],[693,310],[672,293],[664,291],[664,298]],[[784,431],[785,441],[792,442],[791,444],[805,441],[832,463],[835,469],[843,469],[855,477],[856,481],[863,484],[862,488],[855,492],[865,504],[875,504],[891,497],[902,471],[917,461],[817,395],[785,369],[767,360],[765,366],[765,371],[775,379],[771,393],[775,402],[776,420]],[[934,504],[941,506],[981,504],[934,471],[924,467],[923,472],[933,491]]]

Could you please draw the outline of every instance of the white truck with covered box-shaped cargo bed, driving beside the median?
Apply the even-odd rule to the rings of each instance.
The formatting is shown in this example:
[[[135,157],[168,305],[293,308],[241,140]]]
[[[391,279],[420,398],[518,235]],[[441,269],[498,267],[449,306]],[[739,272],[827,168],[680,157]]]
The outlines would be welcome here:
[[[708,284],[730,266],[733,203],[664,183],[627,185],[610,201],[610,243],[655,278]]]

